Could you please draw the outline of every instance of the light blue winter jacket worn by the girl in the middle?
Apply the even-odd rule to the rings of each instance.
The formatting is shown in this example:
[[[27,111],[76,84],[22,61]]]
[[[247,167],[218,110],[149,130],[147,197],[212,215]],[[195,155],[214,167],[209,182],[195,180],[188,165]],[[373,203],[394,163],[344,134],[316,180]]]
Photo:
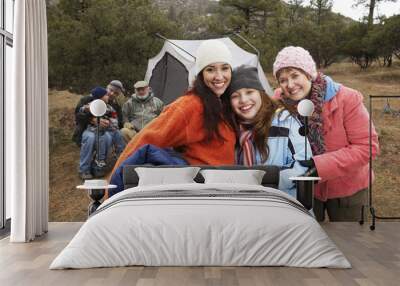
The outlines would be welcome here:
[[[267,161],[261,161],[261,154],[256,150],[257,165],[275,165],[282,168],[279,173],[279,190],[296,196],[296,186],[289,180],[304,174],[307,167],[303,167],[298,160],[312,157],[310,143],[307,139],[307,157],[305,157],[305,138],[299,134],[301,123],[287,110],[277,112],[272,120],[268,135],[269,156]]]

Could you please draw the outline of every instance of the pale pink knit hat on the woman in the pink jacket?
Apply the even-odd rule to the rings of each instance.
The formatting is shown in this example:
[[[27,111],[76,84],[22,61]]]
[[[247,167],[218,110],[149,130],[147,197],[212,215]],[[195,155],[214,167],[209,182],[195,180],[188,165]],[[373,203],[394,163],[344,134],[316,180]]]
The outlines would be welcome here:
[[[283,48],[276,56],[273,73],[283,68],[298,68],[308,73],[312,79],[317,77],[317,67],[310,53],[302,47],[286,47]]]

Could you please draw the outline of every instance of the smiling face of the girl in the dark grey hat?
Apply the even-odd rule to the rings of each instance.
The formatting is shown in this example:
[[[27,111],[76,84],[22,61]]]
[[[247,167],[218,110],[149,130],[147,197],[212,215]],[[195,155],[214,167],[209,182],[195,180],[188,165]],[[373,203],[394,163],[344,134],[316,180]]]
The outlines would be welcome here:
[[[254,88],[241,88],[231,94],[231,106],[237,116],[252,121],[261,108],[261,93]]]

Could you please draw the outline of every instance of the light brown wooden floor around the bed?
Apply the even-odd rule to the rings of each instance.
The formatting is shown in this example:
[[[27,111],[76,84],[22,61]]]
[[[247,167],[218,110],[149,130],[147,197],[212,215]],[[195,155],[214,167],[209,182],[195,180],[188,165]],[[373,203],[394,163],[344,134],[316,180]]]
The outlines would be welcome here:
[[[400,285],[400,222],[378,222],[375,231],[358,223],[323,228],[353,268],[121,267],[48,270],[82,223],[50,223],[32,243],[0,241],[0,285]]]

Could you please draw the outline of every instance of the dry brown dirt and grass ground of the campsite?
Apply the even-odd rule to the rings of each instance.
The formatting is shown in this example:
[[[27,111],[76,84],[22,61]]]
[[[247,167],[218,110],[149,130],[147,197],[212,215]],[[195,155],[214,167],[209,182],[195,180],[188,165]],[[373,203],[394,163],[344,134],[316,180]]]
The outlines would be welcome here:
[[[334,64],[324,71],[335,81],[357,89],[364,95],[400,95],[400,62],[394,67],[374,66],[360,71],[351,63]],[[268,75],[270,83],[275,81]],[[50,221],[84,221],[90,199],[78,176],[79,147],[72,141],[74,107],[80,95],[68,91],[49,91],[50,138]],[[400,98],[392,98],[392,113],[384,113],[385,99],[373,100],[373,122],[379,134],[381,154],[373,162],[376,181],[373,205],[379,216],[400,216]],[[390,110],[389,110],[390,111]],[[396,113],[398,112],[398,113]]]

